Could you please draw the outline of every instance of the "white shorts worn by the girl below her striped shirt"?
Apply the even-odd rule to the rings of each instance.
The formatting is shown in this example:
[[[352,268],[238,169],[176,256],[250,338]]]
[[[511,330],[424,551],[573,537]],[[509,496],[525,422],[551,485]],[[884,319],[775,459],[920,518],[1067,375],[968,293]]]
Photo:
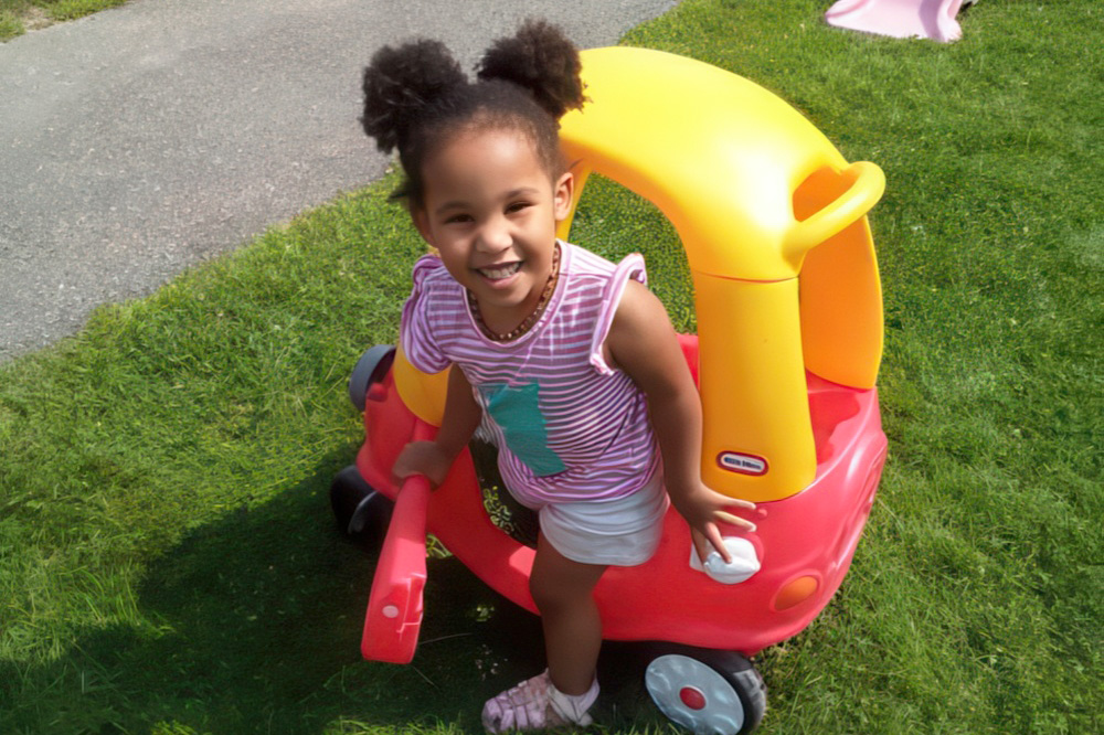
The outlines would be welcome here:
[[[625,498],[544,505],[541,534],[573,562],[635,566],[656,553],[668,504],[664,471],[657,469],[647,484]]]

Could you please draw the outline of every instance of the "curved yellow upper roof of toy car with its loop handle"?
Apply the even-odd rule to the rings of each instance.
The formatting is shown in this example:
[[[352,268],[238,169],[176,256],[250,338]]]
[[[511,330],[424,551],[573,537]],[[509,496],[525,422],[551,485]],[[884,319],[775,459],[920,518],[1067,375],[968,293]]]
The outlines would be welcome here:
[[[561,122],[565,153],[583,161],[584,175],[601,172],[656,204],[679,232],[692,270],[793,278],[805,252],[866,214],[881,193],[878,167],[849,167],[797,110],[743,77],[646,49],[582,56],[591,102]],[[851,187],[835,207],[799,222],[794,192],[825,168]]]

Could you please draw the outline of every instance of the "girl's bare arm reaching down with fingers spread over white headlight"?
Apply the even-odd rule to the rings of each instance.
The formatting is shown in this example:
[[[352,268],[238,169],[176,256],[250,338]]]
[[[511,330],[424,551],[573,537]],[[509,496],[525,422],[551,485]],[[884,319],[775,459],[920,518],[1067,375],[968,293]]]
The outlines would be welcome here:
[[[724,509],[755,505],[702,483],[701,401],[667,310],[643,284],[627,284],[605,347],[607,362],[625,371],[648,397],[652,430],[664,457],[667,493],[690,524],[698,555],[704,561],[708,540],[730,562],[718,524],[749,530],[755,525]]]

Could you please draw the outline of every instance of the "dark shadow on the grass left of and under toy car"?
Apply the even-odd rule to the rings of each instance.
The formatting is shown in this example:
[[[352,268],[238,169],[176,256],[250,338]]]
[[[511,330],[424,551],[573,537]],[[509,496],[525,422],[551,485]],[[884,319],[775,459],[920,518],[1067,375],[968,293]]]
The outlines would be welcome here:
[[[89,630],[45,667],[0,663],[3,732],[481,732],[482,702],[542,668],[539,620],[454,558],[431,560],[414,662],[362,661],[374,555],[335,529],[327,491],[343,459],[156,560],[144,629]],[[607,647],[604,684],[620,711],[647,712],[631,659]]]

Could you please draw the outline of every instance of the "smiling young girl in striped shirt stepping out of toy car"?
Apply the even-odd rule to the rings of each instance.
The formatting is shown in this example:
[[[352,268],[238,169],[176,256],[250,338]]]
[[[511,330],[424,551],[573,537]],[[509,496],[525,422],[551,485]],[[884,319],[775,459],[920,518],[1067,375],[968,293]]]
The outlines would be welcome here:
[[[396,195],[436,249],[414,266],[403,350],[426,372],[454,365],[438,434],[394,475],[440,483],[480,423],[492,434],[510,492],[539,511],[530,589],[548,670],[487,702],[484,725],[588,725],[606,566],[651,556],[668,498],[698,553],[730,561],[719,524],[752,524],[724,509],[753,505],[701,482],[698,393],[643,258],[614,265],[556,239],[574,189],[558,120],[585,100],[571,42],[527,22],[474,83],[440,43],[385,47],[364,95],[364,130],[399,149]]]

